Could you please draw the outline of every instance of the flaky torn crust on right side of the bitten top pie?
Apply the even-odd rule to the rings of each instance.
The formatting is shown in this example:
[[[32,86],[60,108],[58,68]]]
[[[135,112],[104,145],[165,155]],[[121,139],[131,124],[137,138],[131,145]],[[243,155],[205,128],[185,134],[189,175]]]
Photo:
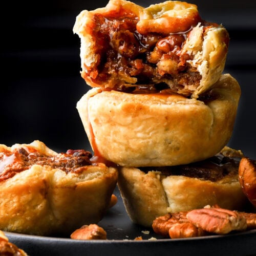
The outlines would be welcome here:
[[[226,62],[228,41],[228,32],[223,27],[210,27],[204,31],[199,24],[190,32],[182,51],[193,55],[193,60],[189,60],[189,63],[202,76],[200,85],[193,90],[191,97],[198,98],[221,77]]]

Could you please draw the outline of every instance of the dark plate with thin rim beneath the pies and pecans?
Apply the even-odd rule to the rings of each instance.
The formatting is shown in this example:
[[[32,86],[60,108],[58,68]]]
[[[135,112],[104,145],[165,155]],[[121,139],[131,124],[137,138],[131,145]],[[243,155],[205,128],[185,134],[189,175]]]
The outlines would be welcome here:
[[[119,191],[118,203],[99,222],[108,240],[79,241],[6,232],[9,241],[29,255],[256,255],[256,230],[225,236],[162,239],[152,229],[136,225],[126,214]],[[136,237],[141,241],[134,241]],[[152,239],[155,238],[155,239]]]

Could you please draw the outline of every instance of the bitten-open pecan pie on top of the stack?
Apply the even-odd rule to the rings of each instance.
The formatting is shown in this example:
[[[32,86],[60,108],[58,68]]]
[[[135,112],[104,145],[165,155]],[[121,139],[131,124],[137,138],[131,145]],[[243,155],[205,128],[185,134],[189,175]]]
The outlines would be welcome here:
[[[92,87],[140,93],[168,89],[197,98],[224,69],[229,36],[200,18],[196,5],[166,1],[143,8],[110,0],[82,11],[81,75]]]

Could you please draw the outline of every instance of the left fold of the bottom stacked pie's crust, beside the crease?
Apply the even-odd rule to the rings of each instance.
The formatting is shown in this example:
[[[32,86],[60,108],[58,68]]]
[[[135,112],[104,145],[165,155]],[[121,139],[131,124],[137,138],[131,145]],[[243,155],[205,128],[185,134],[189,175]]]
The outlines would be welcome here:
[[[151,227],[153,220],[167,214],[166,197],[159,173],[144,174],[137,168],[120,169],[118,188],[127,214],[134,223]]]

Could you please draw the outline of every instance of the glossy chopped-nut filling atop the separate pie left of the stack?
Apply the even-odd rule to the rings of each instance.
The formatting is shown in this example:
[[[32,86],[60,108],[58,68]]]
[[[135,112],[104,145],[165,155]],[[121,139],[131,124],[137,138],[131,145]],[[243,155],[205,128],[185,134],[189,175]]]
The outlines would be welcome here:
[[[20,147],[14,152],[0,153],[0,181],[11,178],[34,164],[59,168],[67,174],[79,173],[83,166],[91,165],[91,157],[92,154],[85,150],[68,150],[66,153],[49,156]]]

